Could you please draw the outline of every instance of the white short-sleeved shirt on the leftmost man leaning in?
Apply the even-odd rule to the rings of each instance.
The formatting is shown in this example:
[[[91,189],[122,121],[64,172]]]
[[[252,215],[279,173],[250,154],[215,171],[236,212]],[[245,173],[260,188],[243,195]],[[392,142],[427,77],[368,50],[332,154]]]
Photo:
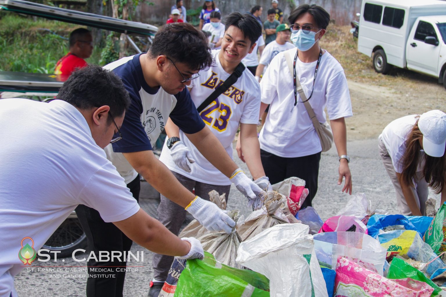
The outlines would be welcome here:
[[[0,100],[0,126],[0,296],[15,297],[23,238],[37,252],[78,204],[106,222],[140,207],[69,103]]]

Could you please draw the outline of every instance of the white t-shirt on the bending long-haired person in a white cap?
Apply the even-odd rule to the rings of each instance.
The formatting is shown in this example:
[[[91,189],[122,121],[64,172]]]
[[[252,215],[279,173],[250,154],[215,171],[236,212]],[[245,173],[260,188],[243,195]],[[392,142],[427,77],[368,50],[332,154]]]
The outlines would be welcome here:
[[[406,140],[407,136],[412,130],[413,126],[416,124],[418,118],[418,114],[406,115],[402,118],[397,118],[396,120],[390,122],[384,130],[383,133],[378,136],[386,146],[390,159],[392,159],[393,168],[396,172],[403,172],[403,164],[401,164],[401,159],[406,151]],[[425,154],[424,151],[421,150],[421,154]],[[419,158],[419,160],[423,160],[424,158]],[[418,163],[417,171],[421,171],[424,162],[421,161]]]

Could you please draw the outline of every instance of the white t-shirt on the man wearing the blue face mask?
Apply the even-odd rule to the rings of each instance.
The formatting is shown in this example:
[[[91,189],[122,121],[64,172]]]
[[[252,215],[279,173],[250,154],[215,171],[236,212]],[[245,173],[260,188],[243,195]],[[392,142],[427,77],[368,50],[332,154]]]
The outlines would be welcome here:
[[[293,75],[285,60],[287,52],[291,53],[293,59],[296,49],[278,53],[260,81],[262,102],[270,106],[259,141],[264,151],[280,157],[295,158],[316,154],[322,151],[322,146],[299,93],[297,105],[294,106]],[[313,89],[316,63],[303,63],[299,59],[296,62],[297,77],[300,77],[307,97]],[[344,70],[328,52],[322,55],[309,102],[319,122],[326,121],[325,107],[330,120],[352,115]]]

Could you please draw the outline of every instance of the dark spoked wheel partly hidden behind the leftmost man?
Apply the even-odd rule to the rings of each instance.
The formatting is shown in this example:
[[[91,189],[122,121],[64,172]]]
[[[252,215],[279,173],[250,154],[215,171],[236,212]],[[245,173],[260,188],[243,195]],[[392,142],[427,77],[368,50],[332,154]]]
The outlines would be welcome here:
[[[63,221],[42,246],[50,251],[60,251],[58,258],[69,257],[74,250],[86,247],[87,236],[85,236],[77,217],[67,218]]]

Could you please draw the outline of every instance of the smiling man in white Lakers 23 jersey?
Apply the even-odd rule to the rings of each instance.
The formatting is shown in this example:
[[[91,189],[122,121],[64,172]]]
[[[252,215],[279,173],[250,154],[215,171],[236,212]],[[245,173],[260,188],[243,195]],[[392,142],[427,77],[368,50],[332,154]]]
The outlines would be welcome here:
[[[250,14],[241,15],[239,12],[233,12],[225,17],[225,22],[226,32],[222,49],[212,51],[215,64],[207,70],[200,71],[200,77],[190,85],[190,95],[195,106],[200,106],[222,81],[227,80],[240,61],[252,52],[257,39],[261,36],[262,28]],[[260,161],[256,130],[259,107],[259,84],[245,69],[227,91],[202,110],[200,116],[225,147],[229,156],[232,156],[232,141],[240,123],[241,145],[248,152],[246,162],[249,171],[255,179],[254,182],[262,189],[267,189],[271,185]],[[212,189],[220,194],[226,193],[228,197],[231,181],[206,160],[206,156],[195,148],[185,137],[185,133],[170,121],[166,125],[166,133],[169,140],[163,147],[160,160],[177,179],[190,191],[195,189],[195,194],[203,198]],[[186,212],[161,195],[158,217],[161,223],[178,234]],[[154,255],[154,281],[165,281],[172,260],[173,257]]]

